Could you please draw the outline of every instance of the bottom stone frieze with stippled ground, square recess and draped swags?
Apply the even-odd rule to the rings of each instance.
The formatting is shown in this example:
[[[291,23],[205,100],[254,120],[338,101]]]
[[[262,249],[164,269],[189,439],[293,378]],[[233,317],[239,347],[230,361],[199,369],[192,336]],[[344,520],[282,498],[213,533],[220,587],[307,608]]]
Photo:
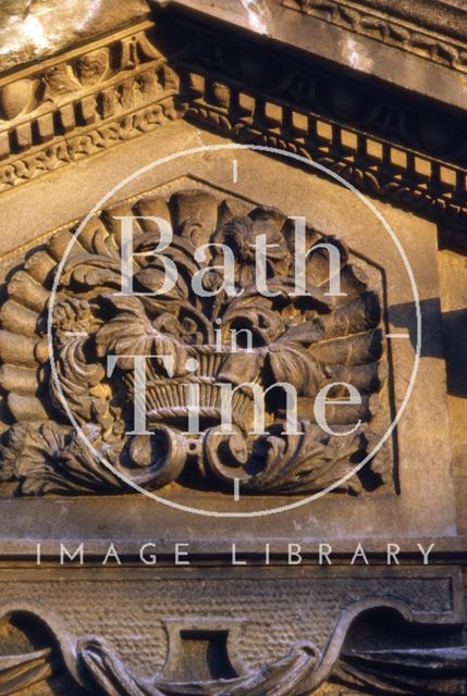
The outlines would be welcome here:
[[[253,696],[279,689],[295,696],[320,693],[323,684],[364,693],[463,693],[466,647],[458,630],[465,617],[454,609],[462,592],[456,569],[423,577],[380,570],[366,580],[361,571],[332,579],[308,571],[291,580],[272,568],[268,577],[242,572],[221,580],[212,570],[175,579],[108,569],[103,595],[95,573],[83,569],[79,580],[65,580],[67,572],[50,570],[44,583],[37,571],[26,569],[22,581],[7,583],[0,621],[5,693],[46,679],[57,693],[73,696],[110,696],[115,688],[131,696]],[[295,592],[284,592],[291,584]],[[89,609],[99,604],[103,612],[77,614],[75,593],[86,593]],[[250,602],[247,617],[244,593]],[[327,607],[319,601],[323,593],[334,599]],[[73,601],[64,600],[72,596]],[[112,601],[119,611],[109,610]],[[392,631],[378,622],[381,612],[395,621]],[[361,620],[365,630],[371,626],[364,641]],[[202,651],[189,655],[189,643],[196,642],[223,658],[214,674]]]

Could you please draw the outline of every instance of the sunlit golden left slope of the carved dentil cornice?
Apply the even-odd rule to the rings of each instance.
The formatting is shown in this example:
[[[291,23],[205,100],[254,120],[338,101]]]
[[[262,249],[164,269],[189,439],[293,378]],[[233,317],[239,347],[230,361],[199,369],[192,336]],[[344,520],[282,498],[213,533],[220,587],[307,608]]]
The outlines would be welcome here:
[[[177,117],[145,21],[0,79],[0,190]]]

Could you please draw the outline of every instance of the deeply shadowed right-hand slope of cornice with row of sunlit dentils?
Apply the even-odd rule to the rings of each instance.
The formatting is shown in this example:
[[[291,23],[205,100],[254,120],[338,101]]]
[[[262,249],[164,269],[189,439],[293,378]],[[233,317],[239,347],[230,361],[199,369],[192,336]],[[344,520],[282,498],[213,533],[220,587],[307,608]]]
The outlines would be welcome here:
[[[236,140],[297,152],[360,190],[465,227],[460,120],[435,110],[427,115],[401,95],[369,90],[349,77],[344,83],[342,75],[276,52],[259,53],[238,38],[234,44],[206,29],[200,40],[184,23],[179,34],[183,44],[171,48],[162,29],[161,44],[181,77],[185,117]]]

